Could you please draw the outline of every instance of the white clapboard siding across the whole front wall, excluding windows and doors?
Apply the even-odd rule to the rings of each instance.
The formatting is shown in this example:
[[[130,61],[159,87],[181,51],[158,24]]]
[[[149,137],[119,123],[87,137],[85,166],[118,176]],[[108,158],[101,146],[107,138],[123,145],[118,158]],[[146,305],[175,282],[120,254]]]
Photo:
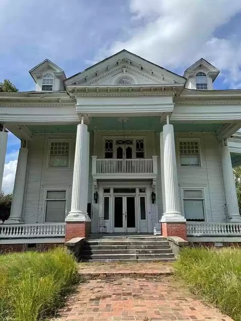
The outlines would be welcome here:
[[[93,202],[93,179],[92,179],[92,159],[91,156],[97,155],[103,157],[103,137],[105,136],[121,136],[120,132],[96,132],[90,136],[90,163],[89,163],[89,187],[88,187],[88,203]],[[139,136],[145,138],[145,157],[150,158],[152,155],[158,155],[158,177],[156,186],[156,204],[151,206],[151,216],[153,227],[157,222],[157,213],[161,218],[163,214],[162,188],[161,188],[161,166],[160,166],[160,139],[159,133],[152,132],[127,132],[126,136]],[[71,157],[70,168],[68,169],[49,169],[47,168],[47,142],[52,138],[68,138],[71,139]],[[180,168],[178,166],[177,156],[177,172],[179,183],[179,197],[182,211],[181,189],[185,187],[199,187],[204,189],[205,208],[207,221],[225,221],[225,198],[222,178],[222,168],[220,159],[220,145],[213,134],[195,133],[195,134],[176,134],[175,140],[177,145],[178,137],[197,137],[201,143],[201,168]],[[27,224],[42,223],[44,221],[44,189],[63,187],[68,190],[67,195],[67,212],[71,208],[71,192],[74,165],[75,135],[36,135],[28,144],[28,160],[26,172],[26,184],[23,202],[23,218]],[[161,151],[163,152],[163,151]],[[92,231],[98,231],[98,203],[93,204],[93,221]]]

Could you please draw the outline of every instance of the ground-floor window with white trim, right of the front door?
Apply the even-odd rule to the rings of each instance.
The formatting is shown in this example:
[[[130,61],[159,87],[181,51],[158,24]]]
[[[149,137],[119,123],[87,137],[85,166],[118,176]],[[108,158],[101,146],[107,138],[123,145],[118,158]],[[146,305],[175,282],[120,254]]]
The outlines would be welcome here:
[[[184,189],[183,204],[187,221],[203,222],[205,220],[203,189]]]

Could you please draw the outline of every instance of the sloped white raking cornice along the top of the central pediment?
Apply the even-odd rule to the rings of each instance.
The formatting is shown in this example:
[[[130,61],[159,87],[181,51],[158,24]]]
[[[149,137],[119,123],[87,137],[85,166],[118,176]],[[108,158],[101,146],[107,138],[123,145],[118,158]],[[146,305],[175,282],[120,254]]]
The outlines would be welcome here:
[[[155,71],[159,72],[159,73],[162,73],[162,72],[169,73],[169,74],[173,75],[174,78],[176,78],[176,80],[178,80],[179,83],[184,84],[187,80],[183,76],[179,76],[179,75],[177,75],[177,74],[175,74],[175,73],[173,73],[173,72],[171,72],[171,71],[169,71],[159,65],[156,65],[156,63],[150,62],[150,61],[126,50],[126,49],[123,49],[123,50],[113,54],[112,56],[105,58],[105,59],[101,60],[100,62],[95,63],[93,66],[86,68],[82,72],[79,72],[79,73],[67,78],[65,80],[65,84],[66,85],[73,84],[75,81],[79,80],[80,78],[82,79],[84,77],[87,77],[88,75],[91,75],[92,73],[95,73],[95,72],[99,71],[100,69],[107,67],[111,63],[114,63],[114,62],[116,62],[120,59],[123,59],[123,58],[133,60],[136,63],[139,63],[139,65],[145,66],[146,68],[149,68],[152,70],[155,69]]]

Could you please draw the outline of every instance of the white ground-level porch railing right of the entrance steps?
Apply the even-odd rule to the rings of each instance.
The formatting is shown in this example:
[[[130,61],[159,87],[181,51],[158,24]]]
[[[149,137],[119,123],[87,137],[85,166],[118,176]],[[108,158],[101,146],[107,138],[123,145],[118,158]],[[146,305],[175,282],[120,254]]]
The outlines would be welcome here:
[[[188,236],[241,236],[241,223],[187,222]]]

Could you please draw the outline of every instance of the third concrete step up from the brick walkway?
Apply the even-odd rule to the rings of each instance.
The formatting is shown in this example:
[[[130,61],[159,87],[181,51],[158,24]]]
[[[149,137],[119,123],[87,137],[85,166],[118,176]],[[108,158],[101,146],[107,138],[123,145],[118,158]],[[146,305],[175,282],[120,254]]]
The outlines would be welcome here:
[[[154,250],[154,249],[169,249],[169,245],[91,245],[91,244],[85,244],[83,247],[83,250],[128,250],[128,249],[134,249],[134,250],[140,250],[140,249],[148,249],[148,250]]]

